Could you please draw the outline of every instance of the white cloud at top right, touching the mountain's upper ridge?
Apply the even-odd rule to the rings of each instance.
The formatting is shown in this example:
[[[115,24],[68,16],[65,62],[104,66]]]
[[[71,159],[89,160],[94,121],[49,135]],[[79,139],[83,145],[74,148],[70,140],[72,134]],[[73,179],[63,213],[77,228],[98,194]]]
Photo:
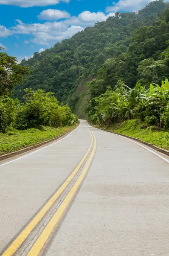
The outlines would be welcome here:
[[[153,0],[119,0],[117,3],[113,2],[113,6],[108,6],[106,12],[137,12],[152,1]]]

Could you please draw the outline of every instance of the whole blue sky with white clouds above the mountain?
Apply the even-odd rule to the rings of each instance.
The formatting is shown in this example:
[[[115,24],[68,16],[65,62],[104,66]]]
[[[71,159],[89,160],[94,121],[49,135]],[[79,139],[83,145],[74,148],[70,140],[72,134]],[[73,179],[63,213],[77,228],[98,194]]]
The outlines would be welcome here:
[[[0,45],[18,61],[150,0],[0,0]]]

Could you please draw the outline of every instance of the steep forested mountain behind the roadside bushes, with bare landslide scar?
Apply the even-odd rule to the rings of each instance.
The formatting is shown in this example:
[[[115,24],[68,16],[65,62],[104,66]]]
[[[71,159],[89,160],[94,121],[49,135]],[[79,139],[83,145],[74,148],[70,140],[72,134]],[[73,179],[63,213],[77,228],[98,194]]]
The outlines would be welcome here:
[[[93,98],[119,79],[129,87],[138,80],[148,87],[169,77],[168,7],[158,0],[137,14],[117,12],[51,49],[35,52],[20,64],[30,68],[30,75],[16,86],[15,96],[22,99],[25,88],[40,88],[76,110],[86,84]]]

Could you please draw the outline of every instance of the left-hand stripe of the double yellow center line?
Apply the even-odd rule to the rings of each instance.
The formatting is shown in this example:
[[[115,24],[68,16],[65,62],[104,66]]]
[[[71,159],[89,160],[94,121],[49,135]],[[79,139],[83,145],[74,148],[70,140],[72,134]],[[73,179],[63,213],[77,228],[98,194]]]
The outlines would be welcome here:
[[[91,133],[90,133],[91,135]],[[31,231],[34,229],[34,227],[37,226],[39,221],[44,217],[46,212],[51,208],[51,206],[54,204],[56,199],[62,194],[64,189],[68,186],[70,181],[73,179],[73,177],[76,175],[76,173],[81,168],[82,164],[85,162],[87,155],[89,154],[91,148],[93,145],[93,137],[91,135],[91,143],[90,146],[78,164],[78,166],[74,169],[72,174],[68,177],[68,179],[62,184],[62,186],[56,191],[56,193],[51,197],[51,199],[45,204],[45,206],[38,212],[38,214],[33,218],[33,220],[28,224],[28,226],[25,227],[25,229],[20,233],[19,236],[13,241],[13,243],[8,247],[8,249],[2,254],[2,256],[12,256],[16,250],[21,246],[21,244],[25,241],[25,239],[28,237],[28,235],[31,233]]]

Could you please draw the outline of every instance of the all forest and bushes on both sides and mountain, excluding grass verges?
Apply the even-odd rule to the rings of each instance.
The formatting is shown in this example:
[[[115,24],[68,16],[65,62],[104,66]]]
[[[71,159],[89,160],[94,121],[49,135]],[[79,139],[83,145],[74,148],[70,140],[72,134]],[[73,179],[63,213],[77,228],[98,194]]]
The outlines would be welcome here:
[[[0,131],[70,125],[70,108],[80,107],[95,123],[139,118],[169,128],[168,47],[169,3],[158,0],[138,13],[116,12],[20,65],[1,51]]]

